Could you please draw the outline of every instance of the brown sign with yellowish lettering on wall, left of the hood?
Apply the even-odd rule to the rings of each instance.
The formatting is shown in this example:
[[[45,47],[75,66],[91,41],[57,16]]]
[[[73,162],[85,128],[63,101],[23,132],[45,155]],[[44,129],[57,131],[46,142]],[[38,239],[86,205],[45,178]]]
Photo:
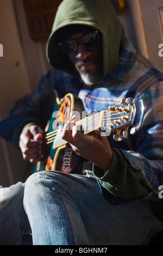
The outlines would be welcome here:
[[[46,39],[51,34],[53,21],[62,0],[23,0],[30,37]]]

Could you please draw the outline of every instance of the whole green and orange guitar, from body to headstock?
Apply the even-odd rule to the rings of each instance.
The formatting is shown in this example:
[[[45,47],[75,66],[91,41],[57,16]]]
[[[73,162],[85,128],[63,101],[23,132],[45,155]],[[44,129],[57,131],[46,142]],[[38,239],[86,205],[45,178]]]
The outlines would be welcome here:
[[[45,129],[46,155],[41,162],[35,164],[34,172],[40,170],[61,170],[66,173],[77,173],[76,167],[82,157],[74,153],[70,145],[61,138],[59,125],[64,125],[74,114],[78,116],[76,124],[82,125],[84,135],[101,130],[102,136],[114,134],[116,141],[122,141],[130,133],[134,134],[140,129],[144,107],[143,101],[139,99],[122,99],[118,105],[110,105],[107,111],[95,112],[87,115],[82,111],[83,102],[77,96],[68,93],[62,100],[55,92],[55,105],[51,120]],[[81,117],[83,117],[81,119]],[[123,132],[122,132],[123,129]]]

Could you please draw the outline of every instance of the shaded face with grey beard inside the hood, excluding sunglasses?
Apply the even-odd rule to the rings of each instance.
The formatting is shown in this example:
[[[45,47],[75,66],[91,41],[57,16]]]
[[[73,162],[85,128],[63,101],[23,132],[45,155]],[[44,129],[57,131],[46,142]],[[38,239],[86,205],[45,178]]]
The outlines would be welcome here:
[[[93,42],[96,42],[95,32],[92,34],[91,40],[94,40]],[[98,36],[96,44],[85,44],[85,41],[89,41],[91,38],[91,33],[85,31],[68,38],[69,42],[71,42],[71,39],[80,38],[73,51],[67,52],[67,54],[87,85],[99,83],[103,79],[102,39],[101,36]]]

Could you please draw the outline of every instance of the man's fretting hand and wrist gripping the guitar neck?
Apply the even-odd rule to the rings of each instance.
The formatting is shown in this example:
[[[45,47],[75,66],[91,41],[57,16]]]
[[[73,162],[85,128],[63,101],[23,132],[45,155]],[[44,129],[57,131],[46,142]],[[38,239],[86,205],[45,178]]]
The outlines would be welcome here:
[[[104,132],[95,130],[84,135],[80,125],[75,123],[75,118],[76,116],[73,116],[64,126],[59,127],[62,139],[70,143],[74,152],[99,168],[108,170],[113,154]]]

